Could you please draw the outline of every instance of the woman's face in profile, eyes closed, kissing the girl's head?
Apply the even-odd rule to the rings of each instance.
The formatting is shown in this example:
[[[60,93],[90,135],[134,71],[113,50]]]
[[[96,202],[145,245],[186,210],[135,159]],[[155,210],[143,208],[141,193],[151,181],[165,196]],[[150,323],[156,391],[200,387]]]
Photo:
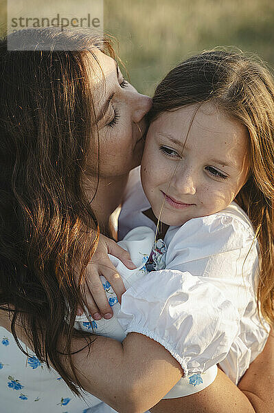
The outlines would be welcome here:
[[[100,141],[100,176],[124,176],[141,162],[146,132],[144,115],[151,107],[151,98],[139,94],[124,81],[111,57],[98,49],[93,52],[100,65],[94,64],[94,58],[89,56]],[[90,162],[91,168],[93,162],[94,158]]]

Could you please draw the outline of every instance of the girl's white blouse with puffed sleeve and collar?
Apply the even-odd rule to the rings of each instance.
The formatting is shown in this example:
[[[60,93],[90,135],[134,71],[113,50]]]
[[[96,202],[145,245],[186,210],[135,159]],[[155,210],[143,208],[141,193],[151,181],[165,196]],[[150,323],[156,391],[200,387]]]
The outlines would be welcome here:
[[[136,226],[155,231],[133,171],[119,216],[119,237]],[[238,383],[262,352],[269,326],[256,305],[258,241],[251,222],[232,202],[212,215],[170,226],[166,269],[146,275],[122,296],[119,321],[128,332],[155,339],[181,363],[185,377],[215,363]]]

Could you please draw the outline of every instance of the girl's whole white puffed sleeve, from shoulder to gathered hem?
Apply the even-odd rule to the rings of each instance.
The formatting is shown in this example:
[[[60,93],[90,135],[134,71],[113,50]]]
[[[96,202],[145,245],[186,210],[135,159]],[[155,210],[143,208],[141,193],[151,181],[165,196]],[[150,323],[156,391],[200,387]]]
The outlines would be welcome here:
[[[225,359],[253,299],[256,248],[242,269],[252,240],[248,226],[231,216],[187,222],[169,242],[167,269],[145,275],[122,296],[118,319],[126,334],[158,341],[179,361],[184,377]]]

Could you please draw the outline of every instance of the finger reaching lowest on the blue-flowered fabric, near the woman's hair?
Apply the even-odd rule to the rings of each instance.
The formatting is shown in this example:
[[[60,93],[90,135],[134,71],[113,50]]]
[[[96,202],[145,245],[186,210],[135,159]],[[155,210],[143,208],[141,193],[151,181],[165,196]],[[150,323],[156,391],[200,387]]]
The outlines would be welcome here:
[[[89,263],[87,269],[88,273],[85,279],[85,287],[89,289],[90,294],[89,296],[87,295],[87,298],[89,297],[90,299],[92,297],[91,304],[94,300],[95,304],[98,306],[100,314],[105,319],[110,319],[113,316],[113,310],[109,305],[109,301],[106,297],[106,292],[104,290],[104,287],[102,286],[102,281],[98,273],[98,266],[91,262]],[[87,305],[89,308],[89,301],[87,301]]]

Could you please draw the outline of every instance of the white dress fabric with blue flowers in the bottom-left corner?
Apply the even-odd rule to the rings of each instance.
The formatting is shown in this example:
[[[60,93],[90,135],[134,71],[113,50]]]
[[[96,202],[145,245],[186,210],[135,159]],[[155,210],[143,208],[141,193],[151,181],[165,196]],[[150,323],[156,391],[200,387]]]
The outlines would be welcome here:
[[[30,357],[25,356],[3,327],[0,337],[0,412],[84,413],[102,403],[91,394],[86,402],[74,396],[60,374],[49,371],[30,350]]]

